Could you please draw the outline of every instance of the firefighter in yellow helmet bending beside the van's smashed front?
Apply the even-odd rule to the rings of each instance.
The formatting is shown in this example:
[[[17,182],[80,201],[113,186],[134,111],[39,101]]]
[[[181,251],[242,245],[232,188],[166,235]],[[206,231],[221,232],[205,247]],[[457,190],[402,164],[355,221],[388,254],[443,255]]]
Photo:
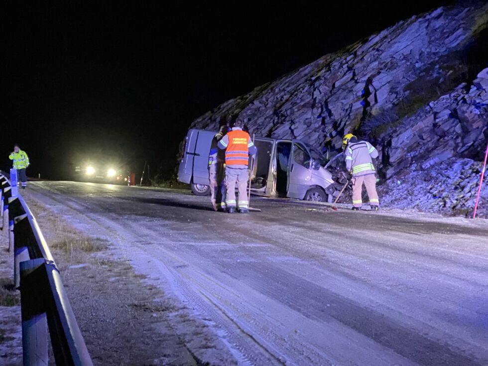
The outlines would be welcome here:
[[[353,210],[363,206],[363,184],[366,186],[371,210],[378,211],[379,200],[376,193],[376,175],[371,158],[378,157],[378,151],[367,141],[359,141],[352,133],[344,136],[342,148],[346,150],[346,168],[352,174]]]

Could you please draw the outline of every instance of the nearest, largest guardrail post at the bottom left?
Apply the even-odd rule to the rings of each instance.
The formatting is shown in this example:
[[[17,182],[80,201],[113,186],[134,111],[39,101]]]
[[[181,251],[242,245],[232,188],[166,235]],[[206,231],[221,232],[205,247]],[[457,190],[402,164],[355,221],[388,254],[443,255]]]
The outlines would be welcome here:
[[[20,263],[20,302],[22,313],[22,354],[24,366],[43,366],[49,362],[47,353],[47,315],[43,275],[43,258]]]

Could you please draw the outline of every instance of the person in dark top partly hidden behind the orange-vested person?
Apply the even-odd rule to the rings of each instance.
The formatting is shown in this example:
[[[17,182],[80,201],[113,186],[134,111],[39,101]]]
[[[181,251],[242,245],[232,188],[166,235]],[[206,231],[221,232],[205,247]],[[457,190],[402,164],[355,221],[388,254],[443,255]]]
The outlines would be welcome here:
[[[228,131],[227,125],[220,127],[220,130],[212,139],[209,152],[209,180],[210,200],[215,211],[226,211],[226,188],[225,177],[225,151],[217,147],[218,142]]]

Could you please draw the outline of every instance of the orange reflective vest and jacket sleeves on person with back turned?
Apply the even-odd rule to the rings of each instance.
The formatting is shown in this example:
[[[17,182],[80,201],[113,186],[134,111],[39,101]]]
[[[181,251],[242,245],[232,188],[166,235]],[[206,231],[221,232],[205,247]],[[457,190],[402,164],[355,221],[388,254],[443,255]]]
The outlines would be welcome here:
[[[249,153],[254,155],[257,151],[249,134],[238,127],[227,132],[219,141],[218,146],[221,149],[226,149],[226,166],[231,168],[246,168]]]

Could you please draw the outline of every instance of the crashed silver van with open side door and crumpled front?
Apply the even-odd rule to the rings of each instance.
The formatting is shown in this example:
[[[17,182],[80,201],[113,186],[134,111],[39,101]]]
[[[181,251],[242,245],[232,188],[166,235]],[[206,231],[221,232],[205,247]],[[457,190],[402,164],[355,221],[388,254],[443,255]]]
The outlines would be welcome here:
[[[216,131],[190,129],[185,137],[178,180],[194,194],[210,194],[208,157]],[[251,172],[251,193],[268,197],[331,202],[332,174],[320,153],[300,140],[255,137],[257,159]],[[249,158],[250,159],[250,158]],[[251,166],[249,161],[249,166]]]

